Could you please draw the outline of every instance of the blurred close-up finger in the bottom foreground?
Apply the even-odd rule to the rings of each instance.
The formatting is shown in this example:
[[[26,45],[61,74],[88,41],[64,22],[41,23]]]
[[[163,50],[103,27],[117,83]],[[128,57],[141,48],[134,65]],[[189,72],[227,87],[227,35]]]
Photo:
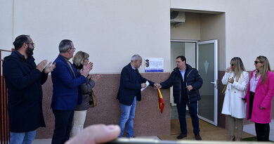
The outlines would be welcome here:
[[[65,144],[106,143],[110,140],[114,140],[115,138],[117,138],[120,131],[121,129],[117,125],[106,126],[104,124],[95,124],[86,127],[84,131],[81,131],[81,133],[68,140]]]

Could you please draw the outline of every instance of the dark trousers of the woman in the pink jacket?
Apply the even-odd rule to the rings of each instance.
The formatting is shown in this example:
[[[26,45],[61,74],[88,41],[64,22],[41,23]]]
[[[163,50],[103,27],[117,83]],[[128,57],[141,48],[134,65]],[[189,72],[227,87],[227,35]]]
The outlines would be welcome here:
[[[258,141],[269,141],[269,124],[259,124],[255,122],[255,130]]]

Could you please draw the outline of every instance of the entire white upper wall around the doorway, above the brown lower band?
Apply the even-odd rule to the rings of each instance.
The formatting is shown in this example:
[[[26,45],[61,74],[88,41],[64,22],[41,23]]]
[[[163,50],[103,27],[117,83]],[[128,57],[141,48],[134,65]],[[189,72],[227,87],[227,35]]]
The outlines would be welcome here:
[[[14,1],[13,8],[13,1],[0,0],[0,47],[9,50],[15,37],[30,34],[39,62],[54,60],[60,40],[72,39],[77,51],[90,53],[93,72],[120,72],[134,53],[164,58],[169,72],[170,39],[176,39],[170,36],[169,11],[177,8],[225,13],[225,67],[239,56],[253,70],[258,55],[274,67],[273,6],[273,0],[24,0]]]

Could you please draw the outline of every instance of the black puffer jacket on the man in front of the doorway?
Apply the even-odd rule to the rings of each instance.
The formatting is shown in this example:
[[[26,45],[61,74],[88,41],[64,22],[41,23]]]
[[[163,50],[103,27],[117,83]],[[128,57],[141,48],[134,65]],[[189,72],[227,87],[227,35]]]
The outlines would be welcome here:
[[[163,89],[167,89],[171,86],[174,86],[173,87],[174,103],[181,103],[181,101],[183,100],[183,96],[186,96],[186,99],[188,100],[187,103],[193,103],[201,99],[199,89],[202,86],[202,77],[200,77],[200,74],[195,68],[186,64],[186,69],[185,69],[185,84],[187,86],[189,85],[193,86],[193,89],[191,91],[185,90],[185,92],[183,92],[183,89],[186,89],[186,88],[185,86],[182,86],[182,82],[183,82],[182,74],[179,71],[178,67],[176,67],[174,71],[171,72],[169,79],[162,82],[161,86]]]

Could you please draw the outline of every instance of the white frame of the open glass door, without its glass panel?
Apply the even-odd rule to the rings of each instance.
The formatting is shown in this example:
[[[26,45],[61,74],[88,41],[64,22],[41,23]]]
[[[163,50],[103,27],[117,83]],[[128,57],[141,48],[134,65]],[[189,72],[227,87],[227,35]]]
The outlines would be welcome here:
[[[214,122],[211,120],[202,117],[199,115],[198,111],[198,117],[200,119],[203,119],[206,122],[209,122],[210,124],[214,124],[215,126],[218,125],[218,39],[211,39],[207,41],[197,41],[197,46],[196,46],[196,67],[197,70],[199,71],[199,44],[212,44],[214,43],[214,81],[211,84],[214,84]],[[199,103],[198,103],[199,105]]]

